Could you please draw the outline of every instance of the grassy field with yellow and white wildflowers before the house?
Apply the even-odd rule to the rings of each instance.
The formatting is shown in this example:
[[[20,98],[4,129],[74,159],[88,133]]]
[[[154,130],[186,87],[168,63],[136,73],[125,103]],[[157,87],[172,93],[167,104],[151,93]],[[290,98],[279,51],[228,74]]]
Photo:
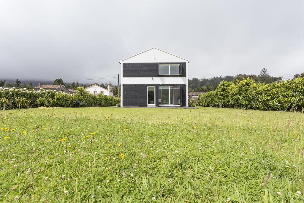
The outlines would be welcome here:
[[[304,201],[303,114],[95,107],[0,118],[1,202]]]

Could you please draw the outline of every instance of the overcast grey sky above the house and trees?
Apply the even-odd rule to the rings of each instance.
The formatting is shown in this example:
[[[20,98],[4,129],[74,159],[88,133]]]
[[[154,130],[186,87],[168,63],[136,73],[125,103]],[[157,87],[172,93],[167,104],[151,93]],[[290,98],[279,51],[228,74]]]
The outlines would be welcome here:
[[[119,60],[151,47],[188,59],[189,79],[293,77],[303,37],[301,0],[0,0],[0,80],[115,77]]]

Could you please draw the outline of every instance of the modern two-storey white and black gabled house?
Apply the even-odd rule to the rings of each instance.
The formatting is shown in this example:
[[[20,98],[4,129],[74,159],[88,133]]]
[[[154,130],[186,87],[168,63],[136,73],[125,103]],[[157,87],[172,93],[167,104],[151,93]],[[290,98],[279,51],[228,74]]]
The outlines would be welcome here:
[[[189,60],[154,47],[119,63],[122,107],[188,107]]]

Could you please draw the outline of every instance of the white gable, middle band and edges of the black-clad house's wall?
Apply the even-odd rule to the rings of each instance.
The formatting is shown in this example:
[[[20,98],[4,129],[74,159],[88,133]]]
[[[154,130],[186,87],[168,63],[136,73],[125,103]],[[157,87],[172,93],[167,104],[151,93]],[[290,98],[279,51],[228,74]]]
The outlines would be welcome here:
[[[123,63],[186,63],[186,77],[123,77]],[[152,48],[120,61],[120,105],[123,106],[123,84],[186,84],[186,106],[188,107],[188,63],[189,61],[168,52]]]

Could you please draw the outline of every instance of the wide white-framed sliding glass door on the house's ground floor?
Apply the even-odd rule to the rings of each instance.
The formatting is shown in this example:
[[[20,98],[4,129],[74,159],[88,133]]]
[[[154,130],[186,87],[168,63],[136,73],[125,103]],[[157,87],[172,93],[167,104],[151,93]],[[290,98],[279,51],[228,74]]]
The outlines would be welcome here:
[[[159,106],[180,106],[180,86],[159,86]]]

